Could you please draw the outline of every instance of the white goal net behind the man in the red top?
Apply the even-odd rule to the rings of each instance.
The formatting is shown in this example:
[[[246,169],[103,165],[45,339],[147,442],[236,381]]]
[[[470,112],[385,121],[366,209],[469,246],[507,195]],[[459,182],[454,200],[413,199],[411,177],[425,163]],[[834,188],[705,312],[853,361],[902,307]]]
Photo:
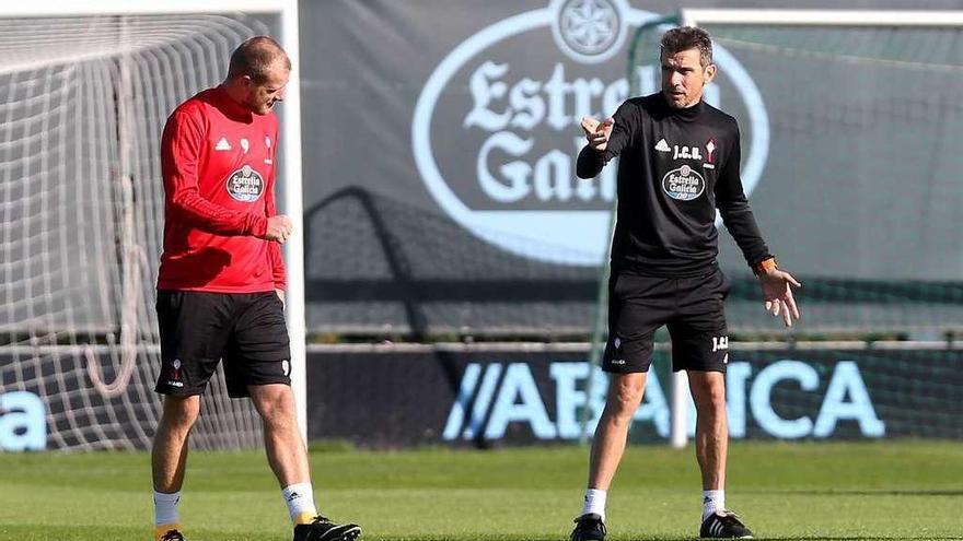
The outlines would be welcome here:
[[[276,20],[0,13],[0,399],[43,402],[43,447],[150,445],[161,405],[161,130]],[[222,377],[193,445],[259,445],[255,412],[227,397]],[[0,402],[0,415],[23,413],[14,402]],[[18,439],[24,430],[0,440],[40,447]]]

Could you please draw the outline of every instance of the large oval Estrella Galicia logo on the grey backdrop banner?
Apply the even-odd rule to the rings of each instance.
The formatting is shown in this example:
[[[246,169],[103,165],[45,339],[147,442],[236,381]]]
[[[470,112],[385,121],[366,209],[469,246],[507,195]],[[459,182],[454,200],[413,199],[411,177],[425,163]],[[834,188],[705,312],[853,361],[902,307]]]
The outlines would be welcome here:
[[[602,262],[616,164],[594,179],[576,177],[585,143],[579,122],[608,117],[629,97],[626,45],[657,17],[627,0],[550,0],[451,49],[426,81],[411,120],[415,163],[439,207],[512,254],[559,264]],[[766,162],[769,122],[742,66],[718,44],[715,58],[721,75],[707,87],[706,101],[746,125],[749,193]],[[631,73],[640,94],[659,91],[655,63]]]

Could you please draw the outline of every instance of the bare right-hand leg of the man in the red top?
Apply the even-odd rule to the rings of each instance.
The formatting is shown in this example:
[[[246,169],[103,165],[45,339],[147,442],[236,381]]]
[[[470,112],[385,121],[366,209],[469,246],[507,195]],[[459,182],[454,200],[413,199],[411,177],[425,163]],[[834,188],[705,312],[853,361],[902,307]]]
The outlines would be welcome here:
[[[311,482],[308,448],[298,430],[291,387],[272,384],[250,386],[248,389],[264,423],[267,460],[281,487]]]

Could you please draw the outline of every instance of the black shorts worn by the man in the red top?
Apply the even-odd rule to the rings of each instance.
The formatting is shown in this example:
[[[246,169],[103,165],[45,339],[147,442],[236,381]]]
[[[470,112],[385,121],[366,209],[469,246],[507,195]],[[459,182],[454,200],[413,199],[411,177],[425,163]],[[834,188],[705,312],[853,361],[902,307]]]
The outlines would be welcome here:
[[[222,358],[231,398],[250,396],[248,385],[291,385],[288,327],[277,293],[158,291],[156,306],[155,391],[201,395]]]

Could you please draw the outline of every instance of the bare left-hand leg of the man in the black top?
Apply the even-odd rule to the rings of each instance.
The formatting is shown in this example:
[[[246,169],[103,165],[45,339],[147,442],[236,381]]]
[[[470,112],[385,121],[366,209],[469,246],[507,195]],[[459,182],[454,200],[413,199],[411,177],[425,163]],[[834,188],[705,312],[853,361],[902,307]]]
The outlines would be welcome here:
[[[615,470],[625,452],[633,415],[642,401],[646,376],[645,373],[612,375],[605,410],[592,440],[589,489],[607,491],[612,484],[612,478],[615,477]]]

